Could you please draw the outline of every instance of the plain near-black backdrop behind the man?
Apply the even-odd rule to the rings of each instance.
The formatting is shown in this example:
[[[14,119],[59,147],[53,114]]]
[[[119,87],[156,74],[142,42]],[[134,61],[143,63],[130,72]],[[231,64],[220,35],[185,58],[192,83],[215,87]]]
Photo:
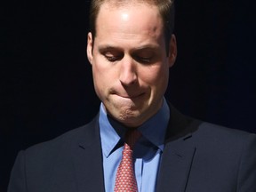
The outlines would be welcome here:
[[[254,2],[176,1],[179,52],[166,98],[184,114],[256,132]],[[0,12],[5,191],[20,149],[89,122],[100,102],[85,55],[88,2],[12,0]]]

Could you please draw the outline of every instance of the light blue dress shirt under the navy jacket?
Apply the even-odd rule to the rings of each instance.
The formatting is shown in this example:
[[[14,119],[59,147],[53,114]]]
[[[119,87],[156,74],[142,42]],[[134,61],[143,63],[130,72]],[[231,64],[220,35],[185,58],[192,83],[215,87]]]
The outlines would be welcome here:
[[[138,129],[142,137],[133,148],[134,169],[138,192],[154,192],[159,162],[164,149],[164,136],[170,118],[170,109],[163,102],[162,108]],[[103,104],[100,105],[100,139],[103,156],[106,192],[113,192],[117,167],[122,158],[125,127],[110,118]]]

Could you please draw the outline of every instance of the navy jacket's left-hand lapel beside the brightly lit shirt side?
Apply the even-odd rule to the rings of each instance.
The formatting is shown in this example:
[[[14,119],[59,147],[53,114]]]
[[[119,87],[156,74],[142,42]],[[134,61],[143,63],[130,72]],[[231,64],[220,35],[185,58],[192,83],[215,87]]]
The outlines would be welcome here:
[[[105,191],[98,116],[84,127],[77,148],[73,162],[78,192]]]

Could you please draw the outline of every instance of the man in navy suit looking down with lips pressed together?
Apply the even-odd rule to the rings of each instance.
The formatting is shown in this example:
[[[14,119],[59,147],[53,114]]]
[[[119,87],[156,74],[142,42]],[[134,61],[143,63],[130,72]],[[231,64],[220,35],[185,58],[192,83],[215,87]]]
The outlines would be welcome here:
[[[9,192],[256,191],[256,136],[183,116],[164,99],[177,55],[172,6],[92,1],[87,55],[100,113],[21,151]],[[132,131],[140,134],[131,147],[136,188],[123,190],[116,175]]]

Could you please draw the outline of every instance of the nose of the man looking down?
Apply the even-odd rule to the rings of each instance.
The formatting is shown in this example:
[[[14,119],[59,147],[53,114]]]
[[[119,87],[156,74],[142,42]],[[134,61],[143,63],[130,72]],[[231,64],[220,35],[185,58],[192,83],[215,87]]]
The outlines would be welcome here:
[[[137,69],[136,64],[132,62],[132,59],[124,58],[122,60],[120,68],[119,80],[121,84],[129,86],[137,81]]]

